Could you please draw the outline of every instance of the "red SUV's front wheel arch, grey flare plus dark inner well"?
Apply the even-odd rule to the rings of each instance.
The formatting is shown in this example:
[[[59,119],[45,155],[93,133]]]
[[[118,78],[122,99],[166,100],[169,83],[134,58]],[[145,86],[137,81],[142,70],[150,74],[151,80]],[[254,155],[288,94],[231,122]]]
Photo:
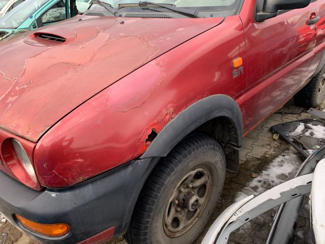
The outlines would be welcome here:
[[[180,139],[197,132],[216,138],[223,146],[227,168],[238,169],[242,113],[236,101],[226,95],[212,95],[184,109],[157,133],[140,159],[166,157]]]

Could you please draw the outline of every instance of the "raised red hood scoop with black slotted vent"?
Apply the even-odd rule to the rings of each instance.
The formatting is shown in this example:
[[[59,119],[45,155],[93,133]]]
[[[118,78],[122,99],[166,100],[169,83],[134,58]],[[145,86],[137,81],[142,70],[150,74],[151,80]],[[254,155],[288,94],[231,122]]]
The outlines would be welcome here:
[[[73,31],[63,28],[49,27],[44,32],[36,32],[31,34],[24,40],[24,43],[38,47],[53,47],[66,45],[72,42],[77,34]]]

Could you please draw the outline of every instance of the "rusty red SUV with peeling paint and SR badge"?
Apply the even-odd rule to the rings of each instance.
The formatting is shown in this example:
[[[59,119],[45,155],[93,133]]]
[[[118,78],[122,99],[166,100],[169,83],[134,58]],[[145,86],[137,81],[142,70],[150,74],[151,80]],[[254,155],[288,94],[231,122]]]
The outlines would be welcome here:
[[[242,137],[324,99],[325,0],[160,2],[1,42],[0,212],[32,238],[192,243]]]

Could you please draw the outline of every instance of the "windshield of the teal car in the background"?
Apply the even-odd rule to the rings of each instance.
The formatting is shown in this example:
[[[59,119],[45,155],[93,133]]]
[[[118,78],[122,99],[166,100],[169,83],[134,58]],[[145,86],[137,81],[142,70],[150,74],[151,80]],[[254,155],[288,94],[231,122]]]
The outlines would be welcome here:
[[[15,29],[26,19],[33,18],[33,14],[48,0],[26,0],[0,19],[0,28]]]

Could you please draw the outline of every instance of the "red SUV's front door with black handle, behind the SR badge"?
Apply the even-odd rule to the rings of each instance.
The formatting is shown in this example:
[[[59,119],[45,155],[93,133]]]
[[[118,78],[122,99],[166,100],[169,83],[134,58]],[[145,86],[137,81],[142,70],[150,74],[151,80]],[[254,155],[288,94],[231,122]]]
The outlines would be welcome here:
[[[293,97],[321,58],[313,53],[316,25],[309,24],[319,15],[316,0],[306,8],[279,11],[276,17],[257,22],[255,7],[263,4],[264,0],[246,0],[240,13],[248,66],[248,88],[240,99],[246,133]]]

